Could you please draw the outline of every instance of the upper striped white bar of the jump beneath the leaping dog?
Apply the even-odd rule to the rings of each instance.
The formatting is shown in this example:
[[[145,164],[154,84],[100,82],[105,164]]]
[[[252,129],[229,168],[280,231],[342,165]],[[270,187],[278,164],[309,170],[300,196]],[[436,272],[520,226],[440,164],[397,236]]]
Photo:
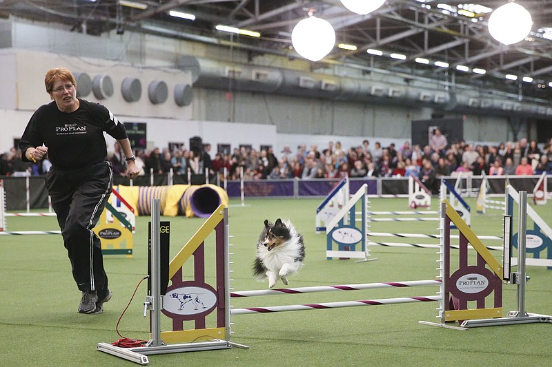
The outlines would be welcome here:
[[[344,285],[334,285],[334,286],[304,286],[299,288],[284,288],[284,289],[259,289],[258,291],[230,292],[230,298],[255,297],[259,295],[317,293],[317,292],[331,292],[331,291],[361,291],[363,289],[403,288],[408,286],[433,286],[433,285],[440,286],[441,281],[440,280],[408,280],[406,282],[344,284]]]

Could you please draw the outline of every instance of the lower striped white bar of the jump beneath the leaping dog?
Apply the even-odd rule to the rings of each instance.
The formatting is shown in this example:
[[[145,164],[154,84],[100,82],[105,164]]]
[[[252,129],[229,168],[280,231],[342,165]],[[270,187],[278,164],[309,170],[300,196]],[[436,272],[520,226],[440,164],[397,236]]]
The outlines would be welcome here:
[[[435,302],[442,301],[440,295],[426,295],[422,297],[400,297],[400,298],[382,298],[381,300],[362,300],[345,302],[326,302],[317,304],[290,304],[287,306],[253,307],[253,308],[235,308],[230,310],[230,315],[251,315],[254,313],[275,313],[285,311],[306,311],[323,310],[327,308],[342,308],[356,306],[380,306],[383,304],[402,304],[415,302]]]

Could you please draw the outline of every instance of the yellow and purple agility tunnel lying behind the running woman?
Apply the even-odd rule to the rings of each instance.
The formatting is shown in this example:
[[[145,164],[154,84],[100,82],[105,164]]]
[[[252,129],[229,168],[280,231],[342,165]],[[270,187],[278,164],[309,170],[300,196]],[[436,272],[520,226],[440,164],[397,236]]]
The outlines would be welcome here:
[[[139,216],[151,214],[151,200],[159,199],[163,216],[208,218],[219,205],[228,206],[228,193],[217,185],[115,186]]]

